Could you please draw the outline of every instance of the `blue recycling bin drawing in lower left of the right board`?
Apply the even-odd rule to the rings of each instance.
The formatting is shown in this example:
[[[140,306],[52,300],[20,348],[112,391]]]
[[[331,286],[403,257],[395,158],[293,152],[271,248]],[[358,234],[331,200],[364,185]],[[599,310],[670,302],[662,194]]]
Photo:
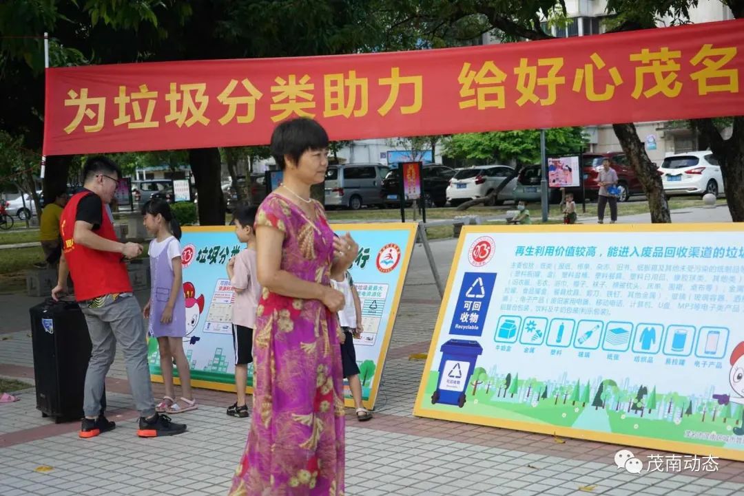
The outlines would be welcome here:
[[[439,384],[432,394],[432,405],[465,405],[465,391],[470,382],[475,361],[483,353],[477,341],[450,339],[440,347]]]

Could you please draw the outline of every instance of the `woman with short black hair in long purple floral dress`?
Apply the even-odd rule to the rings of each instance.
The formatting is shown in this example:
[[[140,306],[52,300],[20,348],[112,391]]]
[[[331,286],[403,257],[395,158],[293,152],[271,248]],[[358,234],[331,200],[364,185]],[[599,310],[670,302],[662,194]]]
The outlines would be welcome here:
[[[282,185],[256,218],[258,280],[253,419],[230,495],[344,494],[344,394],[330,287],[357,244],[334,239],[310,186],[324,180],[328,136],[310,119],[278,125],[272,155]]]

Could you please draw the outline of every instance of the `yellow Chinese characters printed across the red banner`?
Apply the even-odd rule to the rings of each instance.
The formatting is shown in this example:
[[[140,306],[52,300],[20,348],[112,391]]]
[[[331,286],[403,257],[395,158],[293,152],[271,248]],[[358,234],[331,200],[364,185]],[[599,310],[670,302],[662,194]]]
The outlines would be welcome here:
[[[549,46],[549,45],[545,45]],[[470,111],[513,112],[565,105],[566,101],[617,102],[738,94],[740,56],[736,46],[706,43],[681,50],[658,48],[594,50],[565,56],[458,60],[429,72],[405,65],[291,74],[251,75],[215,82],[141,81],[117,85],[116,94],[97,94],[95,85],[66,88],[65,134],[125,129],[208,128],[274,125],[291,117],[362,120],[420,114],[432,107],[461,120]],[[465,60],[464,60],[465,59]],[[425,99],[427,91],[434,98]],[[444,103],[443,103],[444,102]],[[108,105],[112,105],[109,109]],[[214,108],[217,107],[217,108]],[[452,112],[455,114],[452,114]],[[457,117],[457,113],[463,117]],[[504,114],[505,115],[505,114]],[[212,123],[212,121],[216,121]],[[366,121],[365,121],[366,122]],[[175,129],[174,128],[174,129]],[[155,131],[153,131],[155,132]]]

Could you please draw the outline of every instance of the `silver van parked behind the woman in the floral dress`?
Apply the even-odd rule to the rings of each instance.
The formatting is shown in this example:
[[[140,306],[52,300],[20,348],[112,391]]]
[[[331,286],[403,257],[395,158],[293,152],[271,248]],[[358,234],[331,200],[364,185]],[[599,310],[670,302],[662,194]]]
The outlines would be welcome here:
[[[348,207],[382,205],[382,179],[390,169],[379,163],[330,165],[325,179],[325,205]]]

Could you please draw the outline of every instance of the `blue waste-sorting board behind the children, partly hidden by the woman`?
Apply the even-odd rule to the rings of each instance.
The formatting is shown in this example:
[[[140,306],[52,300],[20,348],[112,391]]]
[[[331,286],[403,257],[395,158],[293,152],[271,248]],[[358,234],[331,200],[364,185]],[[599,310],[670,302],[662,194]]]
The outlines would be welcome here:
[[[365,407],[373,408],[417,225],[331,226],[339,235],[350,232],[359,244],[359,254],[350,273],[362,304],[364,330],[359,339],[354,339],[354,348]],[[192,384],[199,388],[235,391],[231,328],[234,292],[225,266],[245,245],[237,241],[234,227],[214,226],[185,227],[181,246],[186,304],[184,350]],[[162,382],[158,344],[153,338],[149,343],[149,361],[153,380]],[[252,386],[253,370],[249,365],[248,392],[252,391]],[[352,406],[347,384],[344,390],[347,405]]]

